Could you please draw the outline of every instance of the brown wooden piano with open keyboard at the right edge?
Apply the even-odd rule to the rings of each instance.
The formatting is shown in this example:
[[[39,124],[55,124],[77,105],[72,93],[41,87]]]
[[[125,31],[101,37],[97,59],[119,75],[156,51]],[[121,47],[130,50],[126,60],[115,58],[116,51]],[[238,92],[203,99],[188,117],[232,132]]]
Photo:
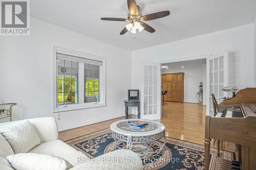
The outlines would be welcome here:
[[[238,91],[218,105],[215,117],[205,117],[205,169],[209,169],[211,139],[241,145],[240,169],[256,169],[256,88]]]

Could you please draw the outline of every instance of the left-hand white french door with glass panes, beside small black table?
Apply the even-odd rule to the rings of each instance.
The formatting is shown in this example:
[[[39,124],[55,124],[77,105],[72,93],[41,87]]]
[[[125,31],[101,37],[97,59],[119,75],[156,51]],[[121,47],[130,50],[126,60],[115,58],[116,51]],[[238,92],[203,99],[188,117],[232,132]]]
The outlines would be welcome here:
[[[160,63],[141,64],[141,118],[161,118],[161,66]]]

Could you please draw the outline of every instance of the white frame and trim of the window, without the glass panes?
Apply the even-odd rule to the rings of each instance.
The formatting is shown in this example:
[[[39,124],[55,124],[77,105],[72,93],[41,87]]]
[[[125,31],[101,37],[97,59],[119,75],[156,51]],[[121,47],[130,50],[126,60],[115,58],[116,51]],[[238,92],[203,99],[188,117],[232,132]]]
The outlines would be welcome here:
[[[56,60],[56,54],[61,53],[65,55],[71,55],[74,57],[81,57],[91,60],[97,60],[102,62],[102,66],[99,67],[99,102],[90,102],[84,103],[84,75],[79,74],[79,72],[83,72],[84,63],[78,63],[78,104],[69,104],[69,105],[58,105],[58,66]],[[59,46],[54,46],[53,50],[53,112],[63,112],[63,111],[71,111],[78,109],[87,109],[87,108],[95,108],[95,107],[103,107],[106,106],[106,85],[105,85],[105,57],[96,56],[92,54],[87,54],[83,52],[78,52],[74,50],[69,50],[67,48],[62,48]]]

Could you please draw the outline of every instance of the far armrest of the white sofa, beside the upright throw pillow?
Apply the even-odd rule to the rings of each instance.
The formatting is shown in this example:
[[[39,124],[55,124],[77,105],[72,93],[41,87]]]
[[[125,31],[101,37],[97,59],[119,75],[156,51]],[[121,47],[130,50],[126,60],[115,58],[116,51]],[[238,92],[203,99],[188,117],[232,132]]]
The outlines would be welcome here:
[[[35,128],[41,143],[58,139],[58,128],[53,117],[39,117],[28,120]]]

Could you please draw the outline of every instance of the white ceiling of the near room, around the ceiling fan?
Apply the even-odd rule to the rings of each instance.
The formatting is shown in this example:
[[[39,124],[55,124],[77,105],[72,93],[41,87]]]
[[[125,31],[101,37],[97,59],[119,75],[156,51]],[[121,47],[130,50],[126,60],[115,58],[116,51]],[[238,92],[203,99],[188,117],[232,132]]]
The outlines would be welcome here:
[[[169,10],[170,16],[147,21],[156,32],[119,35],[126,22],[126,0],[33,0],[31,16],[134,51],[166,42],[252,23],[255,0],[137,0],[142,14]],[[136,37],[136,39],[135,39]]]

